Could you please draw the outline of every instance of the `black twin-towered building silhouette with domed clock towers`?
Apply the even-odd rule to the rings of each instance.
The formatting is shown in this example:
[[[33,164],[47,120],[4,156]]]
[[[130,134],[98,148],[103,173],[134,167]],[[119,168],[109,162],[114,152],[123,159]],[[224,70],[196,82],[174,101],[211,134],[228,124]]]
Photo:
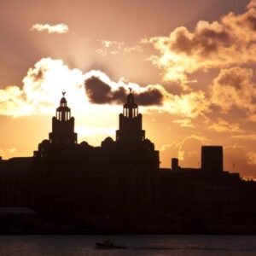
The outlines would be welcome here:
[[[34,152],[32,208],[47,214],[131,216],[154,207],[159,152],[145,138],[142,114],[130,93],[119,115],[116,141],[107,137],[101,147],[77,143],[74,119],[61,98],[52,119],[49,140]],[[38,203],[40,202],[40,203]]]

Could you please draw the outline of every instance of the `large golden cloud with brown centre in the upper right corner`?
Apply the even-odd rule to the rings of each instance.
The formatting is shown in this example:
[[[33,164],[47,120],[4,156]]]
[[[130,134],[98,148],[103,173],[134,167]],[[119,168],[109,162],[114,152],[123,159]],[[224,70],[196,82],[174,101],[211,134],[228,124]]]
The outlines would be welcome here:
[[[181,26],[169,37],[143,39],[159,55],[150,60],[164,71],[164,80],[188,80],[198,70],[228,68],[256,62],[256,3],[251,1],[241,15],[230,13],[220,20],[199,21],[194,32]]]

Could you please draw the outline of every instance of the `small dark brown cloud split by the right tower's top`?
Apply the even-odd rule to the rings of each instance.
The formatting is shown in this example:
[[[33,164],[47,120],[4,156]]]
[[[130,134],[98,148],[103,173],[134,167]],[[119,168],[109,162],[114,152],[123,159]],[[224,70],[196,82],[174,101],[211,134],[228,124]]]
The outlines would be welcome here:
[[[113,90],[109,84],[101,79],[92,76],[84,81],[85,91],[90,102],[96,104],[122,104],[125,102],[127,91],[119,86],[118,90]],[[149,87],[141,93],[134,93],[136,102],[142,106],[161,105],[164,96],[160,90]]]

